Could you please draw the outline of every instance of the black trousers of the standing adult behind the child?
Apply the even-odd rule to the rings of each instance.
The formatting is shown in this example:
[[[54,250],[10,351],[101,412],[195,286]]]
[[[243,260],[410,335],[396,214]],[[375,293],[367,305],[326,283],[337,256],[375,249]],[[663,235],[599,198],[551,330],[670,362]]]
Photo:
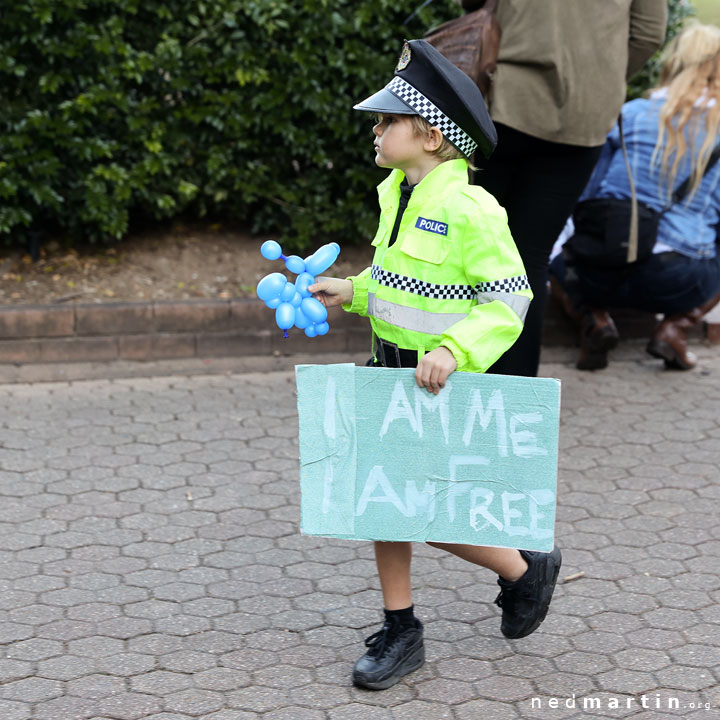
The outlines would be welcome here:
[[[522,334],[488,372],[535,377],[547,302],[548,261],[555,240],[590,179],[602,145],[580,147],[547,142],[496,125],[497,149],[475,174],[475,182],[505,208],[520,251],[533,301]]]

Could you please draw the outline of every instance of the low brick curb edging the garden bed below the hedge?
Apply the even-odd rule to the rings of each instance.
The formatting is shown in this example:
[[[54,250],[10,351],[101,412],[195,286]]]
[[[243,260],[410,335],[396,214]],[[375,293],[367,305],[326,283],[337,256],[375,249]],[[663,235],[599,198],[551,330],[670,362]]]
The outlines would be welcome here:
[[[647,337],[648,314],[614,313],[623,339]],[[68,305],[0,306],[0,363],[52,364],[192,358],[363,353],[370,350],[366,319],[330,311],[331,331],[310,339],[290,331],[284,339],[271,311],[253,298]],[[576,329],[553,298],[543,343],[574,346]],[[706,326],[711,342],[720,325]],[[696,337],[700,337],[698,332]]]

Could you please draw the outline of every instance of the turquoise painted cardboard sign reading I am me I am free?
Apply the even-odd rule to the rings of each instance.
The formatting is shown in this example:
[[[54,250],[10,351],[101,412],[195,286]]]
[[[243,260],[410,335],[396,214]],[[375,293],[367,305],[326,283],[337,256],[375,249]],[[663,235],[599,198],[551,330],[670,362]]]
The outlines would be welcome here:
[[[298,365],[301,530],[553,548],[560,382]]]

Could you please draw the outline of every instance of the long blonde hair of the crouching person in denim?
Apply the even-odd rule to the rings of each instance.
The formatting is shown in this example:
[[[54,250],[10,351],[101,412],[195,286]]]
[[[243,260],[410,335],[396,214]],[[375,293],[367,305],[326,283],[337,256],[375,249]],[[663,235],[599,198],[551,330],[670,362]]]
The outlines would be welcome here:
[[[680,162],[690,152],[689,199],[697,191],[710,154],[717,144],[720,127],[720,28],[693,23],[683,30],[668,48],[659,88],[666,90],[667,97],[660,111],[653,164],[657,163],[662,153],[661,173],[670,195]],[[705,121],[702,128],[705,138],[698,149],[701,119]]]

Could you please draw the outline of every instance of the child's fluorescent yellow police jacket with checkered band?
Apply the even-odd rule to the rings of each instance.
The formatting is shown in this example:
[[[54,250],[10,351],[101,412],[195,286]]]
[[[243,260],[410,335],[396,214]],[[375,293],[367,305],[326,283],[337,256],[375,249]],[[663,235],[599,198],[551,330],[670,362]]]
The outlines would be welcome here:
[[[465,160],[449,160],[415,187],[389,247],[403,177],[393,170],[378,186],[373,264],[348,278],[343,308],[418,357],[443,345],[458,370],[485,372],[517,340],[532,299],[507,215],[468,183]]]

